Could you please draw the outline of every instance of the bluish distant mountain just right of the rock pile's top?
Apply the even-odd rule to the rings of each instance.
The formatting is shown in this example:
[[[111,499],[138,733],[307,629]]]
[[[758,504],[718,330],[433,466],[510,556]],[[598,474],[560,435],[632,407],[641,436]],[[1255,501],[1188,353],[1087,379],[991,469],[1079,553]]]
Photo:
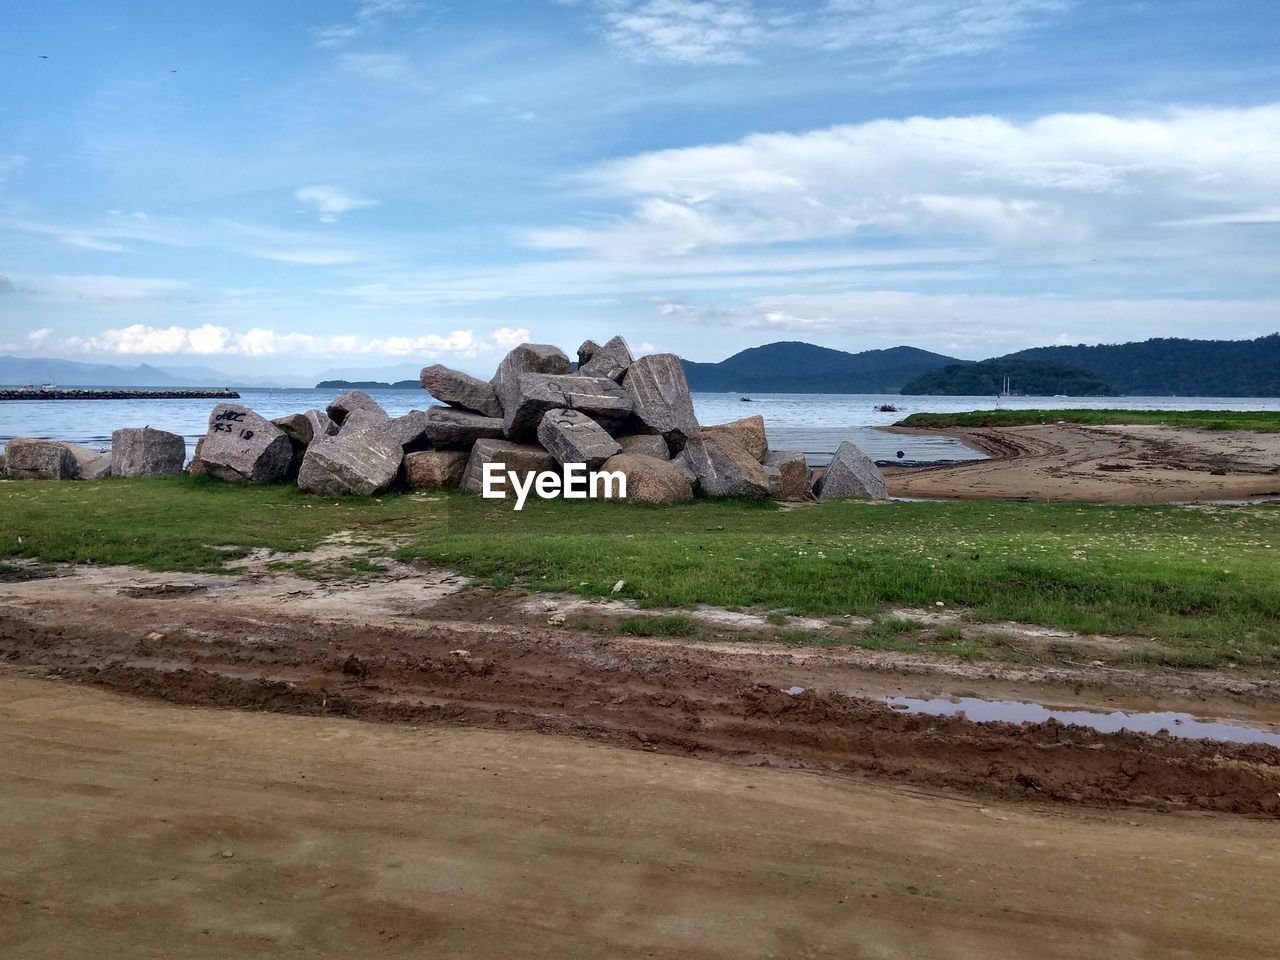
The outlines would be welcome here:
[[[710,393],[897,393],[931,370],[966,361],[915,347],[846,353],[785,340],[744,349],[718,364],[682,362],[689,387]]]

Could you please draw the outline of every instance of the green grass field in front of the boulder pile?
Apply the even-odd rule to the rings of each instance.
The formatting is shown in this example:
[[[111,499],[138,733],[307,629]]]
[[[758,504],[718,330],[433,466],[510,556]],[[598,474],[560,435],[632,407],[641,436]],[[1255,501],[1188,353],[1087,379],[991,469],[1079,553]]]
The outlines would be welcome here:
[[[974,620],[1153,639],[1174,663],[1280,662],[1275,507],[554,500],[517,513],[460,493],[0,483],[0,563],[223,571],[255,548],[305,552],[335,534],[356,556],[300,572],[367,576],[390,554],[495,586],[604,596],[621,580],[620,595],[644,605],[878,614],[942,603]]]

